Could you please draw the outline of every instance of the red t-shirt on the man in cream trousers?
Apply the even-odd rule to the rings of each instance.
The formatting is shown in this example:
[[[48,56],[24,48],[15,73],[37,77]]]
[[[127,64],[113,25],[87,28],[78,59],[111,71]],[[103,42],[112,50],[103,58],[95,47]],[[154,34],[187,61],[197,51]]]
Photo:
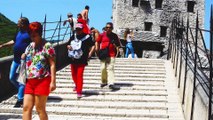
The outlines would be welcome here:
[[[109,42],[111,41],[110,45]],[[100,49],[104,49],[108,47],[109,45],[109,56],[115,57],[116,55],[116,46],[120,46],[119,38],[115,33],[111,33],[110,35],[107,35],[106,32],[99,35],[97,41],[100,44]],[[115,44],[115,45],[113,45]]]

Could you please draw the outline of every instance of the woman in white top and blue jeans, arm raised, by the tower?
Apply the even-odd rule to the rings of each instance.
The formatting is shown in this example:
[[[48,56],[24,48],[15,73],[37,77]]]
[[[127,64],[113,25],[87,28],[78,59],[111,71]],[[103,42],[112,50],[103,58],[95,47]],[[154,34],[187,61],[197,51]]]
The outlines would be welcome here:
[[[135,57],[134,48],[132,46],[132,39],[133,34],[130,32],[129,28],[126,28],[124,32],[124,40],[127,41],[125,58],[128,58],[129,51],[131,52],[132,58]]]

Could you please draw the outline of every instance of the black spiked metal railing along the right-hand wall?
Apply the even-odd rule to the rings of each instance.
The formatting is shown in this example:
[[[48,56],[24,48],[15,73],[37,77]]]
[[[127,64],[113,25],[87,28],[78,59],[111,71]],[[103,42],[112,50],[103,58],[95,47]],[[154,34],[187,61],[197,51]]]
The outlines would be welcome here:
[[[179,68],[178,88],[180,87],[180,76],[182,69],[182,62],[185,60],[185,76],[183,84],[182,104],[184,104],[185,90],[186,90],[186,76],[187,68],[193,72],[193,93],[190,119],[193,119],[194,99],[197,82],[201,85],[205,94],[208,96],[208,120],[212,118],[212,50],[213,50],[213,10],[211,8],[210,30],[204,30],[199,27],[198,13],[196,17],[196,27],[189,26],[189,17],[186,25],[184,25],[183,18],[179,16],[174,17],[171,25],[168,58],[173,62],[175,69],[175,76]],[[210,34],[210,49],[208,50],[204,40],[204,33]],[[180,61],[178,61],[180,60]],[[179,63],[179,64],[178,64]],[[179,66],[179,67],[178,67]]]

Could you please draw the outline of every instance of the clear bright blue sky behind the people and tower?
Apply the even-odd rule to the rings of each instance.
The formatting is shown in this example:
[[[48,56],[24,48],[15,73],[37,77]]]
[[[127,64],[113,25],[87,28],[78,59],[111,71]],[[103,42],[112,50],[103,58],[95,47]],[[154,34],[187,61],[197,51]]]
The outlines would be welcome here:
[[[210,5],[213,0],[205,1],[205,29],[209,30]],[[112,0],[0,0],[0,12],[10,20],[17,22],[21,13],[32,21],[58,21],[67,18],[67,13],[72,12],[74,17],[80,13],[85,5],[90,6],[90,26],[101,31],[106,22],[111,21]],[[205,36],[209,47],[209,35]]]

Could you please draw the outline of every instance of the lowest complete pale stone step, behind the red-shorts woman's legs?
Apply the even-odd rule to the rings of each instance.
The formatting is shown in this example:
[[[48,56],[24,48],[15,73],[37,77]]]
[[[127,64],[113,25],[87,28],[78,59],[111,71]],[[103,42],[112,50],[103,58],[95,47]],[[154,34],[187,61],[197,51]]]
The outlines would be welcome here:
[[[90,115],[90,116],[113,116],[113,117],[146,117],[146,118],[169,118],[167,110],[144,110],[144,109],[117,109],[117,108],[81,108],[81,107],[47,107],[48,115]],[[33,109],[35,112],[35,109]],[[13,105],[2,106],[0,113],[21,114],[22,108],[13,108]]]

